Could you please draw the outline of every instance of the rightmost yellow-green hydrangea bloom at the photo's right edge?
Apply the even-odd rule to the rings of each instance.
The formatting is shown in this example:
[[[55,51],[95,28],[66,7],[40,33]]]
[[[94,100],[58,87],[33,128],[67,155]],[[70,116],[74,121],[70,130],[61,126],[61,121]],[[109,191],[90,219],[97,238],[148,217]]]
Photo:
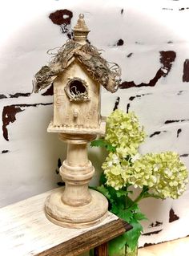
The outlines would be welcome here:
[[[186,166],[179,159],[176,152],[148,153],[143,156],[143,161],[149,162],[155,184],[151,192],[164,199],[178,198],[186,190],[188,172]]]

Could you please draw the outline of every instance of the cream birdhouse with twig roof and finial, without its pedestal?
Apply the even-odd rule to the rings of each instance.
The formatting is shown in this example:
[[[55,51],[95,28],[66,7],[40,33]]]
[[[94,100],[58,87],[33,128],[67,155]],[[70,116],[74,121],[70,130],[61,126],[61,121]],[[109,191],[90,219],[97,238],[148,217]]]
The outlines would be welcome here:
[[[107,63],[101,53],[87,40],[90,32],[79,15],[74,26],[74,39],[68,40],[49,66],[35,75],[34,91],[53,83],[54,116],[48,132],[105,132],[100,114],[101,85],[115,92],[119,85],[119,66]]]

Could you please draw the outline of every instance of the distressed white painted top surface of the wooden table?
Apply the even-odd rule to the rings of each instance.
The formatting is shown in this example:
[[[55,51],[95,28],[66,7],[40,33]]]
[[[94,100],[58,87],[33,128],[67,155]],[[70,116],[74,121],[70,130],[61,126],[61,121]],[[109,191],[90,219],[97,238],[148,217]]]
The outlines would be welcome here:
[[[114,214],[107,213],[107,217],[100,224],[85,229],[68,229],[54,225],[47,220],[43,203],[50,193],[59,190],[54,189],[0,209],[1,250],[5,255],[39,254],[118,219]]]

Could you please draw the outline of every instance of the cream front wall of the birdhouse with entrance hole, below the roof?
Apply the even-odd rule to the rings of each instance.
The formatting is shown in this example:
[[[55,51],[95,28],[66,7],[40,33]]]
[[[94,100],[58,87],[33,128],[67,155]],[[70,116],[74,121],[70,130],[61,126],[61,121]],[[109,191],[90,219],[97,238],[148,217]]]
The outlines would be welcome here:
[[[82,132],[100,126],[100,84],[76,59],[54,80],[51,128]]]

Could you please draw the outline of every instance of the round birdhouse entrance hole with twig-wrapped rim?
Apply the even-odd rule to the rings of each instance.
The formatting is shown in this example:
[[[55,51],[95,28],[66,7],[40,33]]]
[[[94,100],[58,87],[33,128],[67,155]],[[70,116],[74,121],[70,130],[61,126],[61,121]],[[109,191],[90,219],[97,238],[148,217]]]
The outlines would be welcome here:
[[[82,79],[71,79],[66,85],[66,95],[68,95],[70,101],[86,101],[88,98],[88,90],[86,82]]]

